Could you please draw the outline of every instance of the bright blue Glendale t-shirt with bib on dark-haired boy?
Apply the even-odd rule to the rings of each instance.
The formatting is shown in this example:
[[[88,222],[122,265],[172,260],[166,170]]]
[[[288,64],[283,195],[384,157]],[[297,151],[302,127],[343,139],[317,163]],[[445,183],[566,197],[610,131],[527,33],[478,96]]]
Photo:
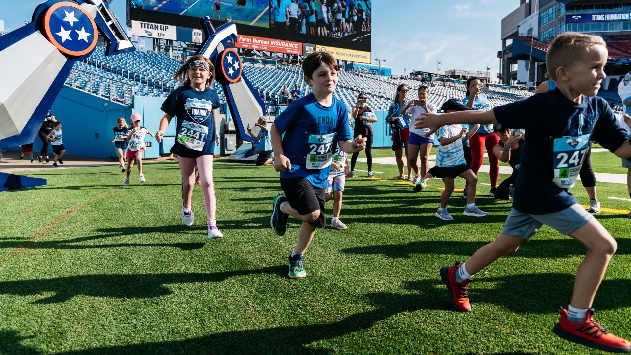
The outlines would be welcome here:
[[[289,105],[274,126],[285,133],[283,152],[292,162],[292,169],[281,171],[281,179],[302,176],[315,188],[326,186],[334,143],[353,139],[346,105],[333,98],[331,107],[325,107],[312,93]]]

